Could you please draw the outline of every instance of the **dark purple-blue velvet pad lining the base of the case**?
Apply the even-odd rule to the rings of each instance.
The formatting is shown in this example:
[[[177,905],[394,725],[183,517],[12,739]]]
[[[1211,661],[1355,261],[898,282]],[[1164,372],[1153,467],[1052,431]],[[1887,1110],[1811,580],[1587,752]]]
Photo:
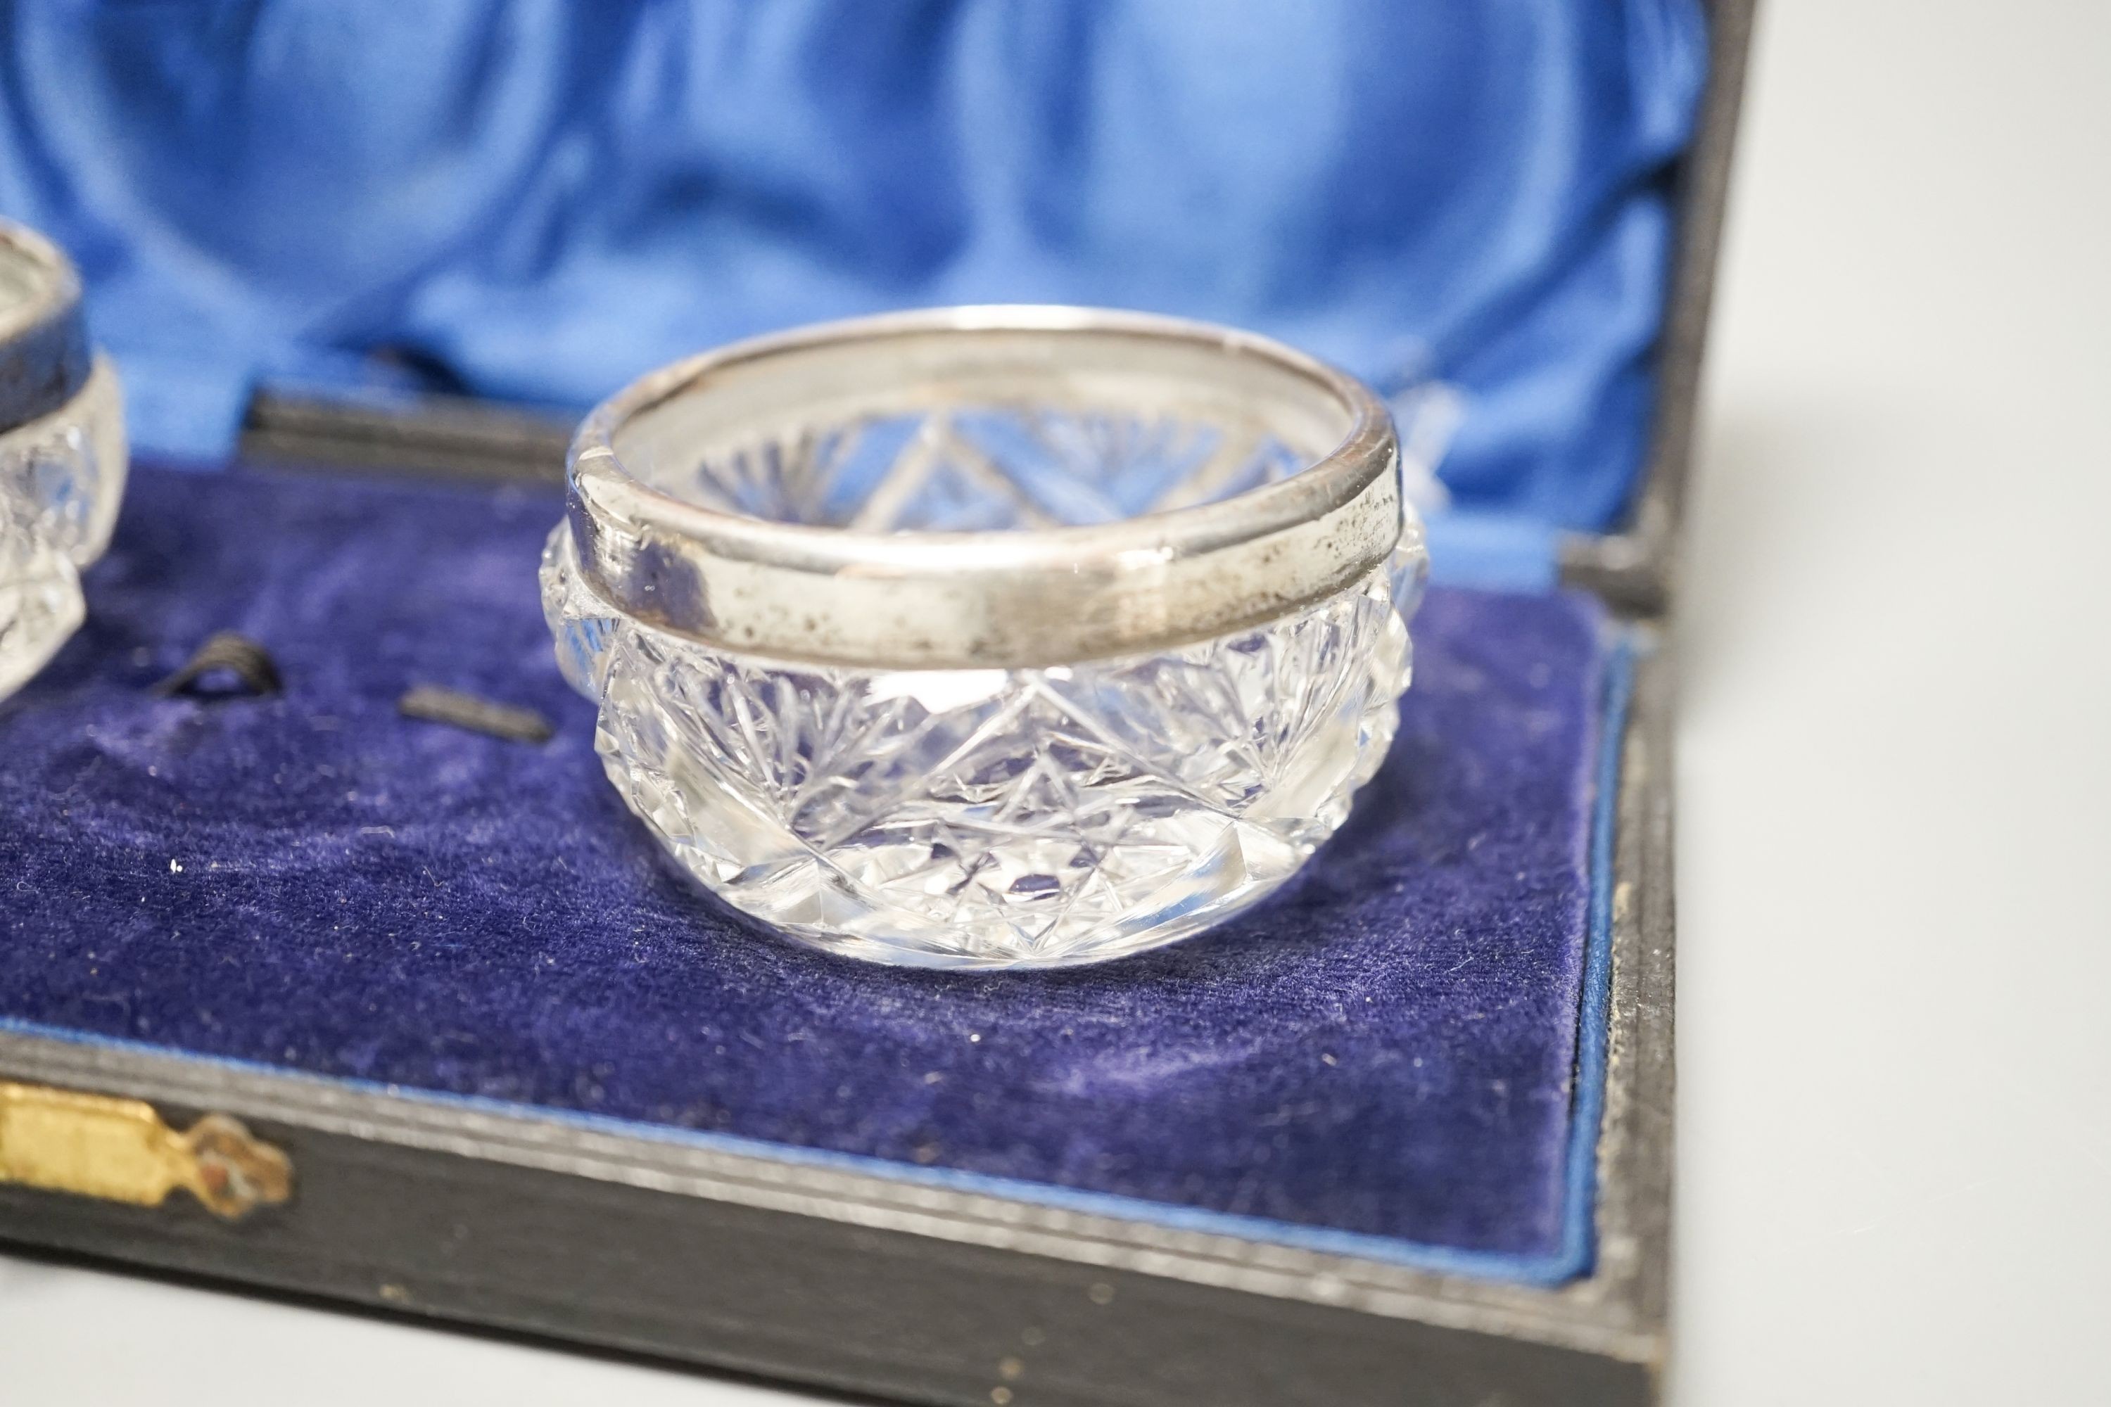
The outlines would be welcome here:
[[[1590,1266],[1623,652],[1431,591],[1400,743],[1275,901],[1100,968],[794,947],[680,882],[557,679],[557,498],[135,475],[0,702],[0,1023],[1391,1261]],[[287,690],[156,698],[213,631]],[[403,719],[441,683],[543,747]],[[1581,1078],[1577,1078],[1581,1074]]]

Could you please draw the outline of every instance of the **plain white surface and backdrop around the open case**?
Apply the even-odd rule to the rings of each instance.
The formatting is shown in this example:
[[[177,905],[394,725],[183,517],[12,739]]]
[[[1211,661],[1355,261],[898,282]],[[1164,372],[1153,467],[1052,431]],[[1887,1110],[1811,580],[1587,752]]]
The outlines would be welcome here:
[[[2111,6],[1765,8],[1680,624],[1674,1403],[2111,1401]],[[0,1259],[8,1407],[255,1390],[796,1401]]]

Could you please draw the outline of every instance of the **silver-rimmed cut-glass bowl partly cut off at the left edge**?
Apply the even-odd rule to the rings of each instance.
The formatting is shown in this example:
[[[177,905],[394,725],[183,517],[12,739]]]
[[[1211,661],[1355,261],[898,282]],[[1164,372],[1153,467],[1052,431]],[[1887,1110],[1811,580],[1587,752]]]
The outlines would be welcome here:
[[[89,348],[80,278],[0,221],[0,698],[80,627],[80,567],[125,494],[116,371]]]

